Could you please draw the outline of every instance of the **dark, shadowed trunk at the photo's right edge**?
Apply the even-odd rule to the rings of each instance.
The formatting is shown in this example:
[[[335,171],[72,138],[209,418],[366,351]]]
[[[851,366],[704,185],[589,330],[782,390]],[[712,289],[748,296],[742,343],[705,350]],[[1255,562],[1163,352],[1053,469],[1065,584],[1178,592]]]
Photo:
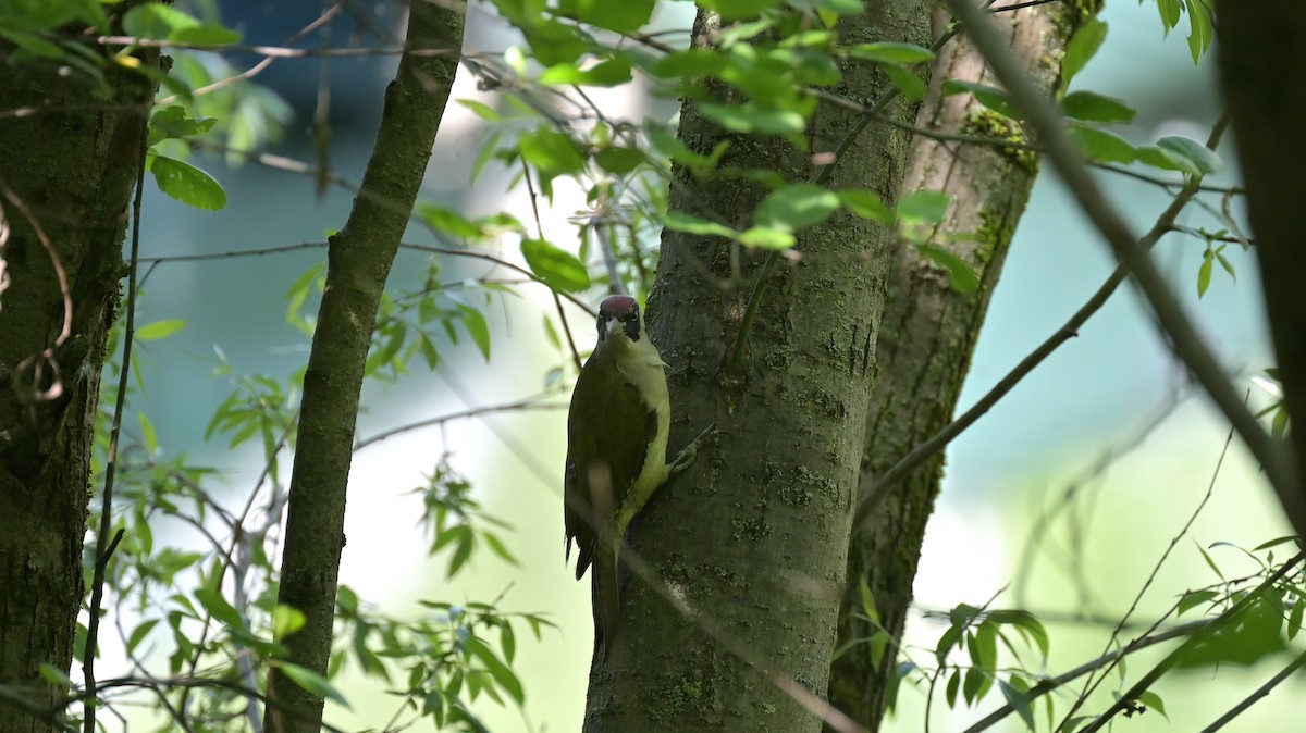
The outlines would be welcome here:
[[[1280,496],[1293,526],[1306,526],[1306,250],[1301,192],[1306,189],[1306,5],[1285,0],[1250,8],[1222,0],[1220,77],[1247,189],[1269,335],[1279,360],[1296,492]]]

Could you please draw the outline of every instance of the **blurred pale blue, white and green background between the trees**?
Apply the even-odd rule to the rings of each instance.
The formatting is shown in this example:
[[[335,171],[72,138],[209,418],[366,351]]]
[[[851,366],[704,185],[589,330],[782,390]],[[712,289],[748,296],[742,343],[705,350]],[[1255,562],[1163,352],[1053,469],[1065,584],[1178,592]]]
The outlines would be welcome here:
[[[283,43],[320,12],[312,3],[270,0],[223,0],[219,7],[226,22],[242,29],[248,43],[266,44]],[[398,5],[367,8],[367,22],[342,18],[323,31],[324,43],[376,43],[398,33]],[[687,29],[692,5],[666,3],[657,20],[666,27]],[[1194,68],[1183,34],[1162,40],[1153,3],[1111,3],[1102,20],[1110,26],[1106,43],[1077,77],[1076,89],[1134,104],[1139,119],[1122,134],[1136,143],[1166,134],[1205,140],[1220,110],[1211,59]],[[515,40],[491,8],[473,4],[466,51],[494,56]],[[249,56],[235,63],[257,60]],[[256,81],[276,90],[289,108],[286,136],[270,153],[317,162],[310,123],[325,83],[330,168],[357,183],[394,63],[390,56],[364,56],[272,64]],[[594,100],[606,112],[636,121],[645,116],[667,120],[675,113],[666,102],[644,107],[648,102],[637,91],[594,90]],[[453,98],[499,104],[492,91],[479,90],[462,72]],[[525,189],[518,185],[504,193],[509,171],[491,162],[471,185],[470,170],[486,136],[477,116],[451,104],[422,198],[469,217],[507,210],[530,220]],[[1232,159],[1228,146],[1221,153]],[[219,155],[201,157],[196,163],[226,188],[226,211],[196,211],[148,187],[142,257],[321,243],[343,224],[349,211],[347,192],[329,188],[319,194],[308,175],[253,162],[229,167]],[[1100,179],[1140,232],[1169,202],[1153,185],[1107,172]],[[559,185],[554,203],[541,210],[549,237],[562,247],[575,245],[577,231],[568,218],[584,207],[577,190]],[[1181,223],[1216,228],[1212,218],[1195,207]],[[441,244],[415,228],[410,237]],[[1241,372],[1241,385],[1251,391],[1252,403],[1263,404],[1268,395],[1252,386],[1250,376],[1272,363],[1254,262],[1237,245],[1230,247],[1226,254],[1237,267],[1237,282],[1217,267],[1199,300],[1195,283],[1202,252],[1200,240],[1170,235],[1156,256],[1225,364]],[[520,260],[513,241],[498,253]],[[426,256],[405,252],[400,257],[393,283],[417,287],[427,273]],[[187,327],[145,346],[141,369],[150,387],[131,410],[150,416],[165,450],[184,451],[196,463],[217,467],[232,502],[242,502],[255,483],[263,468],[261,451],[257,446],[230,451],[225,441],[205,441],[210,416],[231,390],[230,377],[209,373],[222,359],[238,373],[277,380],[300,369],[308,342],[287,323],[286,292],[323,261],[321,248],[257,258],[166,261],[145,282],[138,322],[182,318]],[[1053,334],[1111,269],[1105,244],[1055,176],[1042,176],[994,296],[961,406],[972,404]],[[440,280],[479,278],[490,270],[485,262],[448,258],[441,262]],[[564,355],[550,346],[542,329],[543,316],[554,309],[552,299],[543,288],[521,292],[525,297],[504,297],[502,305],[496,300],[487,309],[492,333],[488,363],[461,339],[458,344],[439,344],[443,363],[434,372],[414,365],[413,373],[393,383],[371,383],[363,396],[359,438],[545,391],[550,372],[565,365]],[[593,340],[592,321],[568,308],[577,346],[585,350]],[[313,309],[310,301],[306,312]],[[488,412],[405,432],[370,445],[354,460],[342,583],[396,616],[424,613],[421,599],[502,599],[503,610],[543,612],[558,623],[558,630],[546,630],[538,643],[520,638],[515,668],[526,689],[524,710],[485,699],[475,704],[474,711],[492,730],[577,730],[584,711],[592,643],[589,583],[577,583],[563,563],[564,386],[547,400],[552,408]],[[1102,653],[1110,623],[1130,606],[1208,489],[1209,503],[1143,597],[1136,621],[1148,622],[1185,590],[1217,580],[1196,545],[1224,541],[1250,549],[1286,533],[1268,489],[1237,442],[1216,476],[1228,429],[1207,400],[1192,394],[1149,316],[1134,293],[1122,288],[1079,338],[949,449],[944,492],[916,583],[921,610],[946,610],[959,603],[982,605],[995,596],[995,608],[1028,608],[1049,625],[1053,650],[1047,672],[1054,674]],[[469,477],[474,496],[490,514],[512,526],[504,536],[520,561],[517,566],[479,553],[469,571],[445,582],[447,558],[427,557],[430,537],[418,526],[422,500],[411,492],[424,484],[423,473],[441,456]],[[1209,552],[1228,576],[1258,567],[1232,546]],[[1101,617],[1106,625],[1064,622],[1083,614]],[[908,644],[917,644],[913,651],[929,659],[927,650],[944,629],[946,622],[914,614]],[[1131,730],[1196,729],[1250,693],[1277,669],[1276,664],[1171,674],[1156,689],[1166,700],[1169,723],[1149,712],[1118,725]],[[1131,661],[1130,669],[1147,669],[1147,664]],[[353,673],[341,682],[354,703],[353,712],[329,706],[328,721],[343,728],[383,725],[396,699],[354,682]],[[1118,683],[1115,677],[1106,682]],[[1301,720],[1306,712],[1301,691],[1299,681],[1290,681],[1239,719],[1235,729],[1288,729],[1281,721],[1293,719],[1288,716]],[[973,711],[953,712],[936,703],[931,729],[959,730],[998,704],[996,694]],[[900,708],[887,729],[922,730],[923,711],[925,690],[904,686]],[[1021,729],[1019,719],[1004,725],[999,729]]]

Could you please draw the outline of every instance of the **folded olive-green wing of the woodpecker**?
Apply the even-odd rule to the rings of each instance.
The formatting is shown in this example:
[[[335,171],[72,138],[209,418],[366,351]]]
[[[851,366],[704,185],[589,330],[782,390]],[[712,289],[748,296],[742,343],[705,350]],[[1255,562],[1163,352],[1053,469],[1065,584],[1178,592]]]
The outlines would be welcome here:
[[[577,579],[594,560],[598,527],[622,505],[626,490],[644,468],[648,446],[658,429],[657,412],[635,386],[620,370],[603,369],[596,359],[603,359],[603,353],[592,355],[581,369],[567,419],[563,498],[568,554],[572,540],[579,550]],[[599,481],[592,481],[592,476]]]

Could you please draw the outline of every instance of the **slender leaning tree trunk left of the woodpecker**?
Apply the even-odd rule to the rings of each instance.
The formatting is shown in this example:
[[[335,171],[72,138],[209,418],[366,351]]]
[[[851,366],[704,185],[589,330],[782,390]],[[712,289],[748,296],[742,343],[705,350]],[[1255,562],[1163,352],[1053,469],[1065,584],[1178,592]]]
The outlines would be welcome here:
[[[462,48],[466,4],[413,3],[405,53],[385,90],[376,145],[349,220],[330,237],[326,288],[317,314],[290,480],[278,603],[304,627],[277,639],[287,661],[326,676],[334,636],[345,489],[358,399],[376,309],[426,173]],[[273,666],[265,713],[273,733],[316,733],[323,699]]]

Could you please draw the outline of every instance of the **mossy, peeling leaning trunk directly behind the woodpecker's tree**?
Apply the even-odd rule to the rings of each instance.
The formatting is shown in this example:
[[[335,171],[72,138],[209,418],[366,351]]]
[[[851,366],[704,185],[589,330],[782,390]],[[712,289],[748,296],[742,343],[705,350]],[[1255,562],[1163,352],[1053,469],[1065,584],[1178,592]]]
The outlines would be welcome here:
[[[935,13],[936,27],[944,27],[946,13]],[[1060,80],[1059,59],[1067,40],[1089,17],[1087,9],[1062,4],[994,14],[1012,51],[1027,60],[1030,77],[1049,94]],[[944,97],[943,82],[952,78],[995,85],[970,43],[964,37],[953,38],[932,64],[917,127],[1028,142],[1017,123],[983,108],[970,95]],[[876,353],[879,380],[867,412],[859,490],[868,490],[912,447],[951,421],[990,295],[1037,172],[1038,155],[1030,150],[940,142],[925,136],[913,140],[902,190],[944,190],[952,196],[947,218],[930,244],[968,262],[980,275],[980,290],[970,295],[956,292],[947,273],[916,248],[897,248]],[[940,453],[887,488],[870,524],[849,550],[838,627],[838,648],[846,646],[846,651],[832,664],[829,698],[868,730],[879,729],[889,702],[895,643],[902,636],[942,475]],[[862,610],[863,583],[879,626],[888,634],[888,639],[880,636],[874,644],[870,639],[880,631]]]

